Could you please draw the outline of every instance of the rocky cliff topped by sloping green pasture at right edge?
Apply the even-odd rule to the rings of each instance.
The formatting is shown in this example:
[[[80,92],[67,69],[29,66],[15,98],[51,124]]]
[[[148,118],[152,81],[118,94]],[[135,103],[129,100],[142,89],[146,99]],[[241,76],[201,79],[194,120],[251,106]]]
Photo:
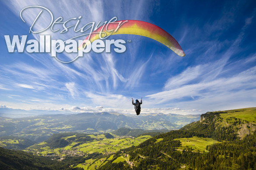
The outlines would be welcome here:
[[[207,132],[217,140],[243,139],[256,130],[256,108],[206,112],[194,122],[181,128],[196,132]],[[206,133],[206,134],[207,134]]]

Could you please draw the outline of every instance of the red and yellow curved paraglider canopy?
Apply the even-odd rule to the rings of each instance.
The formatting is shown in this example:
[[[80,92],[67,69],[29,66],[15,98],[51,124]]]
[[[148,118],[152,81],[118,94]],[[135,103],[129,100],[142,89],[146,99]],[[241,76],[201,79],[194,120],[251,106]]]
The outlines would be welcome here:
[[[120,25],[120,23],[122,23]],[[140,20],[119,20],[105,24],[92,32],[85,38],[82,44],[78,47],[79,50],[85,48],[88,43],[99,38],[106,38],[114,34],[135,34],[144,37],[152,38],[160,43],[166,45],[176,54],[184,57],[186,54],[182,50],[180,44],[171,36],[171,34],[164,31],[162,28]],[[89,42],[89,41],[90,42]]]

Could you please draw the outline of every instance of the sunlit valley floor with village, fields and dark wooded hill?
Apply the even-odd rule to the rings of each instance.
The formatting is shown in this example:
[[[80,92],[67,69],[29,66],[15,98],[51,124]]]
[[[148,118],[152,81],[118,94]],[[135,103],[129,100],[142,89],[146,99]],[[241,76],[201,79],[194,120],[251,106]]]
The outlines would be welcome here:
[[[110,133],[98,135],[59,133],[54,134],[42,143],[28,147],[25,151],[39,156],[51,156],[59,159],[66,156],[86,156],[92,153],[109,155],[121,149],[138,146],[149,138],[151,138],[149,135],[125,137],[112,136]]]

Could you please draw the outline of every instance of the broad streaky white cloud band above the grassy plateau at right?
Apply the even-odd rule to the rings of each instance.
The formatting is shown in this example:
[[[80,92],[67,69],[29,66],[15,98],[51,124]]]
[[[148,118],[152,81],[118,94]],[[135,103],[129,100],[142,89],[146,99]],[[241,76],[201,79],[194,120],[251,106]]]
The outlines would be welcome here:
[[[205,71],[207,71],[207,68]],[[147,97],[155,101],[157,104],[170,101],[174,103],[174,105],[177,105],[178,103],[183,103],[182,100],[186,101],[186,103],[190,101],[196,101],[202,104],[202,102],[199,101],[203,101],[204,99],[208,101],[209,104],[213,101],[213,103],[215,104],[227,102],[232,103],[234,101],[240,100],[241,98],[245,99],[245,96],[248,92],[255,91],[255,81],[256,67],[253,67],[242,71],[237,75],[232,75],[231,77],[217,78],[207,82],[201,81],[190,85],[188,83],[185,83],[186,85],[182,85],[181,87],[173,88],[171,90],[159,92],[152,95],[147,95]],[[226,95],[226,97],[223,97],[224,94]],[[234,94],[236,94],[237,96],[234,97]],[[211,98],[216,98],[217,100],[213,100]]]

